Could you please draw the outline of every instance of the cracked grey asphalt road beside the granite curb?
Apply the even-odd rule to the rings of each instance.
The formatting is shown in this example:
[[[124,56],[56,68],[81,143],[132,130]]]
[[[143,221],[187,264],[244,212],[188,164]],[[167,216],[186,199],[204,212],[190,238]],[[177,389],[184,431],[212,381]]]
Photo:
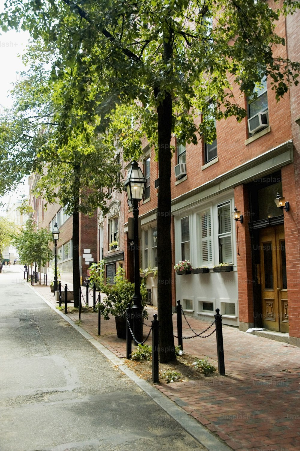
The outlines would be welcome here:
[[[0,451],[205,450],[23,281],[0,274]]]

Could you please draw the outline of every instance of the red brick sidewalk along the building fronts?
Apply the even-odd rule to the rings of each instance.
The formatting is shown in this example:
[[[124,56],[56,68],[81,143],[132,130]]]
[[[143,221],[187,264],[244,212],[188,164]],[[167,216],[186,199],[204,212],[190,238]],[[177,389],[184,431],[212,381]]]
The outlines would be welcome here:
[[[34,288],[57,305],[49,286],[34,285]],[[92,297],[89,304],[92,305]],[[148,311],[146,323],[150,324],[156,312],[151,307]],[[78,313],[68,316],[78,320]],[[101,336],[97,336],[97,314],[84,313],[81,321],[81,327],[97,341],[118,357],[125,358],[126,342],[117,338],[113,320],[102,320]],[[188,317],[188,321],[196,332],[210,324],[197,318]],[[176,315],[173,327],[177,335]],[[183,318],[183,336],[191,335],[194,334]],[[300,348],[229,326],[223,326],[223,340],[225,377],[161,384],[157,389],[234,450],[299,451]],[[217,367],[215,334],[206,339],[184,340],[183,346],[185,353],[198,358],[208,356]]]

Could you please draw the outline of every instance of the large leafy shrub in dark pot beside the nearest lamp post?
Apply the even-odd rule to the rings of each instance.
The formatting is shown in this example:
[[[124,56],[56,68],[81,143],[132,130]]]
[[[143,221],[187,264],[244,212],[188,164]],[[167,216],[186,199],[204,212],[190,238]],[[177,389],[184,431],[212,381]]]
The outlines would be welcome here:
[[[105,320],[109,320],[110,316],[115,317],[115,325],[118,338],[126,338],[126,310],[128,304],[132,305],[134,295],[134,284],[125,279],[125,271],[118,268],[115,276],[114,285],[102,285],[101,291],[105,293],[98,308]],[[145,308],[147,289],[145,284],[141,284],[141,297],[143,306],[143,318],[148,318],[147,309]]]

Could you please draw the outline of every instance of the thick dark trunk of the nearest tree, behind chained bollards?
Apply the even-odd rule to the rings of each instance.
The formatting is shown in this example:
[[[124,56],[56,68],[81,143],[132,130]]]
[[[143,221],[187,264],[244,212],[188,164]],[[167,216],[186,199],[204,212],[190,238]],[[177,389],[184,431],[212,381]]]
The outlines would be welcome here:
[[[171,37],[169,37],[171,42]],[[171,58],[171,43],[164,44],[165,62]],[[159,94],[159,89],[154,93]],[[157,313],[160,325],[159,360],[161,363],[176,359],[172,322],[172,252],[171,252],[171,130],[172,97],[165,92],[157,104],[158,116],[158,171],[157,198]]]

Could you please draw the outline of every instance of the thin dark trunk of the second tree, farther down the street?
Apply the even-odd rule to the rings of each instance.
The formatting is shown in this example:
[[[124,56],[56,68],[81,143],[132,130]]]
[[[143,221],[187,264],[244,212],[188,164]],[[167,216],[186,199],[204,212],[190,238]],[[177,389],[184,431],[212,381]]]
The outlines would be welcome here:
[[[80,266],[79,266],[79,195],[80,164],[74,165],[74,210],[73,210],[73,290],[74,307],[79,307]]]

